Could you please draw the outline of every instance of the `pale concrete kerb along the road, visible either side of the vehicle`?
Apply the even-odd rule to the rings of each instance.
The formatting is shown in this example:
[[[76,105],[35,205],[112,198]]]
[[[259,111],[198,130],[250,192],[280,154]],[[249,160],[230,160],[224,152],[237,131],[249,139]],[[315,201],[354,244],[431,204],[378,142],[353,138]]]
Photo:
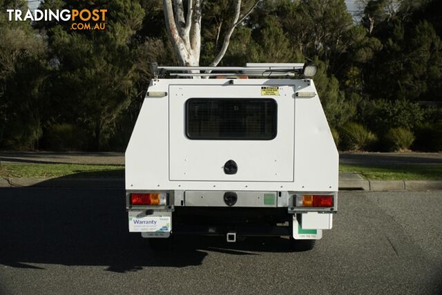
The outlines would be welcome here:
[[[124,189],[124,178],[0,178],[0,187]],[[340,180],[339,190],[423,191],[442,189],[440,180]]]

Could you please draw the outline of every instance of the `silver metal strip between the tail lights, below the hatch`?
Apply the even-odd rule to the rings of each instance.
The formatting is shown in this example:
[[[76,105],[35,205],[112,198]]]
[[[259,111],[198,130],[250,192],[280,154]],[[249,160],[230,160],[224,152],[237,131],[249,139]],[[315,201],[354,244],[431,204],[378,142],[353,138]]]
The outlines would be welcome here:
[[[224,202],[224,191],[186,191],[186,207],[229,207]],[[278,197],[275,191],[236,191],[238,200],[232,207],[277,207]],[[273,204],[265,204],[265,195],[274,198]],[[268,197],[267,196],[267,197]]]

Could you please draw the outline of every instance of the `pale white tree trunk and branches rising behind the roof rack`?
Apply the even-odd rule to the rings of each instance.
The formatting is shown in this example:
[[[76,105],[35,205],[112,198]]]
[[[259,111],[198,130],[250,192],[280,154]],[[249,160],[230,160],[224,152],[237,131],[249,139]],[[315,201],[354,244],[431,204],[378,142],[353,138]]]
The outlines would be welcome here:
[[[172,2],[173,1],[173,2]],[[173,44],[177,57],[183,66],[199,66],[201,52],[201,1],[187,1],[187,14],[184,14],[182,0],[163,0],[164,17],[166,28]],[[246,17],[258,6],[262,0],[256,1],[252,8],[240,18],[241,0],[236,0],[235,12],[231,26],[224,35],[224,41],[220,53],[211,62],[211,66],[217,66],[229,48],[233,30],[244,21]]]

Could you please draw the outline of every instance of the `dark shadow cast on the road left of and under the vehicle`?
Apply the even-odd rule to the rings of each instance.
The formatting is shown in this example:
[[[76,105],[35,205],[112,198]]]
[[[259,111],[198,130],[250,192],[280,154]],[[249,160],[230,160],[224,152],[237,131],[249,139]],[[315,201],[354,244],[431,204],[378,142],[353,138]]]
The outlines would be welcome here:
[[[124,198],[120,189],[0,189],[0,264],[102,265],[124,273],[200,265],[209,251],[294,251],[282,238],[227,244],[221,238],[180,236],[174,249],[153,252],[140,234],[128,233]]]

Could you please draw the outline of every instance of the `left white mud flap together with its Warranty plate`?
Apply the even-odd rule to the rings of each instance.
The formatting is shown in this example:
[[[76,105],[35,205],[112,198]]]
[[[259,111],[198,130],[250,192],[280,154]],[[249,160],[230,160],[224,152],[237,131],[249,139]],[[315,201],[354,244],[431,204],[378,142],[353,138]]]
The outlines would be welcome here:
[[[172,231],[171,212],[129,211],[128,222],[130,232],[141,232],[143,238],[168,238]]]

